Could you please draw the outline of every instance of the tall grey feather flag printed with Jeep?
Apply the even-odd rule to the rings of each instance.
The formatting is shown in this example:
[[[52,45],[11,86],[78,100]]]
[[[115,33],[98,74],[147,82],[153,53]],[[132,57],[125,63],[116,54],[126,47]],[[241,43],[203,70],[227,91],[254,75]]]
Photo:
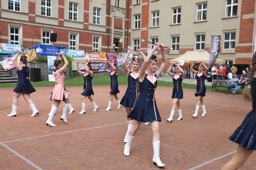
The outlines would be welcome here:
[[[219,47],[221,46],[221,36],[212,35],[211,38],[211,48],[210,48],[210,59],[209,59],[209,69],[211,69],[216,62],[219,55]]]

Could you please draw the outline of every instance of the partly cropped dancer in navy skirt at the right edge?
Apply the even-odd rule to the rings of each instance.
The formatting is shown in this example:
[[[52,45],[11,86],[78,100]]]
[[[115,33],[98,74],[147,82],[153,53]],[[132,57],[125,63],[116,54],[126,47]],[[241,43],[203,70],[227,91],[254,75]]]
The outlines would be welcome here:
[[[229,137],[235,143],[238,143],[237,152],[232,159],[227,162],[221,170],[233,170],[241,167],[246,159],[256,150],[256,54],[252,59],[252,69],[250,76],[246,81],[247,85],[251,83],[251,95],[248,94],[247,85],[245,86],[242,95],[245,101],[252,102],[251,112],[245,117],[243,123]]]

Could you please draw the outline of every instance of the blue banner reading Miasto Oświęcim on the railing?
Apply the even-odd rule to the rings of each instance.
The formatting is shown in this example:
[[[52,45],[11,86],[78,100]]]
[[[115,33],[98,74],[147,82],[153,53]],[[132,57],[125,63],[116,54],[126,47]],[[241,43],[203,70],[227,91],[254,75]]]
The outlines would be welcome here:
[[[44,44],[38,44],[34,46],[35,53],[37,56],[41,55],[47,57],[49,55],[58,56],[60,52],[66,53],[66,47],[50,46]]]

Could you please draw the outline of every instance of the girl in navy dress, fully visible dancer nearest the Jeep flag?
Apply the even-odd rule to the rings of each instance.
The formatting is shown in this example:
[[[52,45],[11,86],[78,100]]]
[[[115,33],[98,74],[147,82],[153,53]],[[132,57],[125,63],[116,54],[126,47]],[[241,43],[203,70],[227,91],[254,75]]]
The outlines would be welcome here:
[[[206,114],[205,105],[203,103],[203,97],[205,96],[205,92],[206,92],[204,80],[208,72],[208,68],[201,61],[198,61],[199,62],[198,71],[196,71],[193,69],[196,62],[197,61],[195,61],[190,67],[190,70],[192,70],[196,74],[196,79],[197,79],[197,92],[195,93],[195,96],[197,97],[197,104],[196,104],[196,111],[192,115],[193,117],[197,117],[200,104],[203,109],[203,114],[201,116],[205,116]],[[203,69],[205,70],[203,71]]]

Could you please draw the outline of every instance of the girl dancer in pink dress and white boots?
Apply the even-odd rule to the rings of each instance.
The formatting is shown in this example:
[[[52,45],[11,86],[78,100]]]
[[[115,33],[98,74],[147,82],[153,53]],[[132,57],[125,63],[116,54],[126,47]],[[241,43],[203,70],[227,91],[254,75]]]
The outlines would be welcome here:
[[[62,61],[60,59],[60,56],[63,57],[65,64],[62,64]],[[46,125],[56,126],[56,124],[53,124],[53,116],[55,115],[55,112],[57,111],[57,108],[61,101],[65,102],[63,106],[63,115],[60,117],[60,120],[63,120],[64,122],[68,123],[66,114],[67,109],[69,105],[69,95],[70,92],[65,90],[64,87],[64,79],[66,72],[64,71],[68,67],[68,60],[65,57],[64,53],[59,53],[59,56],[54,61],[54,67],[56,69],[53,70],[53,75],[55,79],[55,87],[53,89],[53,94],[50,100],[54,100],[54,106],[51,109],[51,112],[49,113],[48,120],[46,121]]]

